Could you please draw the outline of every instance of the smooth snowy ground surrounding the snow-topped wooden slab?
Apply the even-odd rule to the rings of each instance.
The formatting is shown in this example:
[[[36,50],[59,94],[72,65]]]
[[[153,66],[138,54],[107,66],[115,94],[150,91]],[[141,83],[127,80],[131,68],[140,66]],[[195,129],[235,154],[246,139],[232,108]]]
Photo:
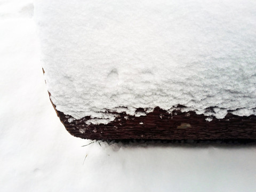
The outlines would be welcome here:
[[[0,191],[256,191],[255,145],[71,136],[47,94],[31,0],[0,0]]]

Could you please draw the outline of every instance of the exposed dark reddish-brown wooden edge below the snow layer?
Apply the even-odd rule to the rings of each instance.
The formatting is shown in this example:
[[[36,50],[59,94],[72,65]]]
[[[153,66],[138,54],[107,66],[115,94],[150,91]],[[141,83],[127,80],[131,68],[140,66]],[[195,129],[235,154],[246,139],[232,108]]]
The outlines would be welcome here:
[[[119,113],[119,117],[107,125],[85,124],[90,116],[69,123],[71,116],[57,109],[55,111],[67,131],[83,139],[256,139],[255,115],[237,116],[228,113],[223,119],[213,117],[208,122],[206,116],[197,115],[195,111],[182,113],[182,107],[178,106],[172,115],[158,107],[147,116],[135,117]]]

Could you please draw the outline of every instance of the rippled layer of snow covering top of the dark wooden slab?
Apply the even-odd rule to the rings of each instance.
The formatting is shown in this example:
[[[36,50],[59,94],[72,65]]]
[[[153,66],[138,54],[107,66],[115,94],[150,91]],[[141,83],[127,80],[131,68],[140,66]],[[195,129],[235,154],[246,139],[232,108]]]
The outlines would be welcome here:
[[[255,13],[250,0],[36,0],[47,89],[64,114],[106,123],[106,109],[178,104],[255,115]]]

